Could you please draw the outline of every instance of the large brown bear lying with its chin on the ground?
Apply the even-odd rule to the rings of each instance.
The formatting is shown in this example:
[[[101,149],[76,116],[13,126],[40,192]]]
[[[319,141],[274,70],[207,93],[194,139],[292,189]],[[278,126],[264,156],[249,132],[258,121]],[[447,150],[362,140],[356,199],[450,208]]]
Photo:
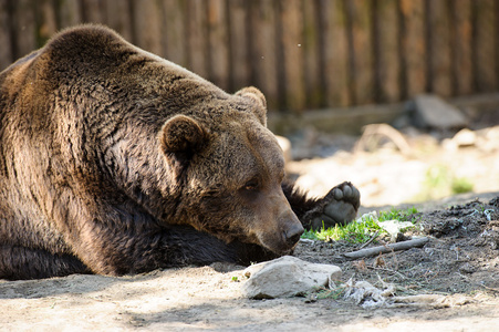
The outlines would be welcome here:
[[[352,220],[350,183],[284,179],[254,87],[228,94],[101,25],[0,74],[0,278],[124,274],[290,253]]]

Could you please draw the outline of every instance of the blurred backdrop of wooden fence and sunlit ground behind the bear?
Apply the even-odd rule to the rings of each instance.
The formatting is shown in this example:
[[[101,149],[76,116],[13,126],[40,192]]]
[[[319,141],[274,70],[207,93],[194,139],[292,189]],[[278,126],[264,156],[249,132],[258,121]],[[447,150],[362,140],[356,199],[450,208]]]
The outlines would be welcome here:
[[[0,70],[83,22],[228,92],[260,89],[313,194],[499,191],[496,0],[0,0]]]

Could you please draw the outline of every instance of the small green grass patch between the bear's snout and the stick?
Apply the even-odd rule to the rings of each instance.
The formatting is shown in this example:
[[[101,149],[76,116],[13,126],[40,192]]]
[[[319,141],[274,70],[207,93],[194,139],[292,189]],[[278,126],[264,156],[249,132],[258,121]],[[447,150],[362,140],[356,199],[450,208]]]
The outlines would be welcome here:
[[[414,222],[414,214],[417,214],[417,209],[414,207],[406,210],[392,209],[389,211],[381,211],[380,216],[366,214],[344,226],[336,225],[328,229],[322,227],[320,230],[305,230],[302,238],[320,241],[344,240],[350,243],[363,243],[368,241],[376,231],[378,234],[386,234],[378,222],[394,219]]]

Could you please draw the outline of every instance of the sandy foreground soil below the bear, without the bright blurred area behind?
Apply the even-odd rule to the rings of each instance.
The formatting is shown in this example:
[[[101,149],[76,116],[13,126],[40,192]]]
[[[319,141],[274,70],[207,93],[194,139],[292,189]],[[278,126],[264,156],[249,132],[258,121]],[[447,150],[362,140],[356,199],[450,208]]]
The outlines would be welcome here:
[[[491,203],[417,215],[420,234],[430,241],[384,255],[382,264],[378,258],[341,258],[355,249],[346,243],[306,241],[297,248],[304,260],[342,267],[343,281],[367,280],[382,288],[383,280],[395,286],[397,295],[440,294],[448,303],[444,308],[363,309],[342,297],[312,303],[305,298],[249,300],[239,291],[242,267],[217,263],[123,278],[3,281],[0,330],[490,331],[499,324],[499,205]],[[493,211],[492,221],[475,212],[481,208]]]

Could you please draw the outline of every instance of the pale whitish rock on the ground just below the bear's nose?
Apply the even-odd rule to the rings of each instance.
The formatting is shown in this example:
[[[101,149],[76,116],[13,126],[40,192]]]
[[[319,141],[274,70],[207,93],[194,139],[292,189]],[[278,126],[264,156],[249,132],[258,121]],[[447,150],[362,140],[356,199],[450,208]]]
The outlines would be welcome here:
[[[316,287],[328,287],[337,280],[341,269],[284,256],[251,266],[245,270],[250,277],[242,283],[241,292],[250,299],[291,298],[304,294]]]

